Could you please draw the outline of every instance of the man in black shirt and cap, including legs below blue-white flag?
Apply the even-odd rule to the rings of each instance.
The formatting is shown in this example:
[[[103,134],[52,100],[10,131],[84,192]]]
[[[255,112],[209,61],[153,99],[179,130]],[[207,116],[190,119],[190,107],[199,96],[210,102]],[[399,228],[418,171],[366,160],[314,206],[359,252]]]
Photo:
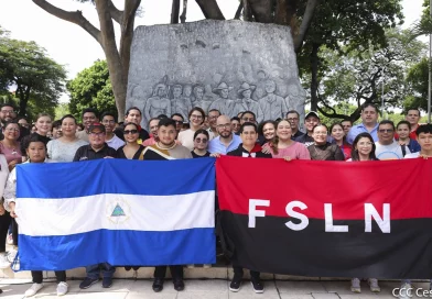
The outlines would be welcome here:
[[[83,145],[76,151],[74,162],[89,160],[99,158],[115,158],[117,156],[116,150],[109,147],[105,143],[105,125],[101,123],[93,123],[88,128],[89,145]],[[86,267],[87,277],[79,284],[79,288],[87,289],[91,285],[99,281],[99,270],[102,269],[104,279],[102,287],[110,288],[112,286],[112,275],[116,268],[108,263],[89,265]]]

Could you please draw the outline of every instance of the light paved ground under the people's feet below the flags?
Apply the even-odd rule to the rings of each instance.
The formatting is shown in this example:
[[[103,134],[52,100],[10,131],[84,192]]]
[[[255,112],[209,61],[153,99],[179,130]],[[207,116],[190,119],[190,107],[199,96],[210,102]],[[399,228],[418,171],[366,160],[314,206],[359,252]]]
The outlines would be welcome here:
[[[266,299],[367,299],[367,298],[395,298],[391,295],[393,288],[400,286],[395,281],[380,281],[381,292],[370,292],[367,284],[361,281],[363,292],[352,294],[349,281],[264,281],[266,291],[262,295],[255,294],[249,281],[244,281],[239,292],[230,292],[228,281],[223,279],[191,279],[185,280],[186,289],[175,291],[171,280],[165,281],[162,292],[155,294],[151,289],[151,280],[115,279],[110,289],[102,289],[101,284],[91,286],[87,290],[80,290],[80,280],[68,280],[69,292],[64,298],[76,299],[142,299],[142,298],[266,298]],[[0,279],[3,294],[0,298],[18,299],[24,298],[24,291],[31,286],[29,279]],[[418,283],[415,287],[429,289],[429,284]],[[34,298],[56,298],[56,284],[45,283],[45,287]],[[420,297],[413,297],[420,298]]]

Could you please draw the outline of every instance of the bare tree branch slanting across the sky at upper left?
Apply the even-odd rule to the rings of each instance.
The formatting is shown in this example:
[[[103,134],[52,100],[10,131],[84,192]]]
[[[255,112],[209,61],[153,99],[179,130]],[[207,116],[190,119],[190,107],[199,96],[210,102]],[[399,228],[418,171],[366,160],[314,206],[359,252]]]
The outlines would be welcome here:
[[[37,7],[46,11],[47,13],[57,16],[58,19],[68,21],[71,23],[77,24],[87,31],[99,44],[102,44],[100,31],[95,27],[86,18],[83,16],[80,11],[65,11],[45,0],[32,0]]]

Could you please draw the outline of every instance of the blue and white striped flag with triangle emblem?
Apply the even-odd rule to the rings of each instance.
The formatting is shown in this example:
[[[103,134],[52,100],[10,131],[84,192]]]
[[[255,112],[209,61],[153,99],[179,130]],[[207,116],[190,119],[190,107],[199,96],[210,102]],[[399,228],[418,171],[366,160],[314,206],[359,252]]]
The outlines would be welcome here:
[[[215,263],[214,163],[18,165],[20,269]]]

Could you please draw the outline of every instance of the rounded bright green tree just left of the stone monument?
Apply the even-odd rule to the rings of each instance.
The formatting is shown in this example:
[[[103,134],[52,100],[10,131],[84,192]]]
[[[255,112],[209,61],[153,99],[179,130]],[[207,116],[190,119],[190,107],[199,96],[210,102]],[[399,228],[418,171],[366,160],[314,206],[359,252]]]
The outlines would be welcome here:
[[[75,79],[67,82],[66,88],[71,93],[69,111],[78,120],[86,108],[117,113],[106,60],[97,60],[82,70]]]

